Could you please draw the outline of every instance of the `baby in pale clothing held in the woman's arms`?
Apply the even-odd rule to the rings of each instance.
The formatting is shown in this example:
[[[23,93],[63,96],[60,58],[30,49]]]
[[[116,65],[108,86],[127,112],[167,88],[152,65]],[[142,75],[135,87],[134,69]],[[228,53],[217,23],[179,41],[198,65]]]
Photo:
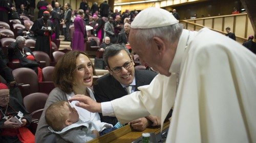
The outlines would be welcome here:
[[[92,122],[82,122],[75,108],[61,101],[50,105],[45,112],[49,130],[70,142],[86,142],[99,136]]]

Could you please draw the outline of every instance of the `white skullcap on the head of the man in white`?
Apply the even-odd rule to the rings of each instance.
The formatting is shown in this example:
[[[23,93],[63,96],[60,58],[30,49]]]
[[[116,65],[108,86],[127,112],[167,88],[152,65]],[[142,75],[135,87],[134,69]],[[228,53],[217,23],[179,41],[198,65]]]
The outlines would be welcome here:
[[[170,26],[178,23],[173,14],[161,8],[147,8],[142,10],[133,20],[132,29],[150,29]]]

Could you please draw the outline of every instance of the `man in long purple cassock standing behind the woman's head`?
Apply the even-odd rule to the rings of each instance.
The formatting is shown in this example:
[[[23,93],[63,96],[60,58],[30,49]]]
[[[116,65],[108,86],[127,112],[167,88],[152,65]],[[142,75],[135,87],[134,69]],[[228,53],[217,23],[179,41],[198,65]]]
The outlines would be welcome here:
[[[75,31],[73,33],[72,39],[72,50],[78,50],[84,52],[84,34],[85,34],[85,27],[82,18],[77,15],[74,19],[74,27]]]

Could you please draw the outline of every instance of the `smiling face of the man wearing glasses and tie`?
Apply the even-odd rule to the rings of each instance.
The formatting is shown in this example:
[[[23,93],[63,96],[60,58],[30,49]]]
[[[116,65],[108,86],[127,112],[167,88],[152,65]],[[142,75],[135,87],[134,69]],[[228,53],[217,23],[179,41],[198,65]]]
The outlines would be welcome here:
[[[134,79],[134,62],[131,57],[124,51],[121,50],[117,55],[110,57],[108,59],[109,66],[108,70],[110,74],[120,83],[128,86],[133,82]],[[124,68],[124,65],[129,65],[127,68]],[[121,71],[118,73],[115,70],[121,68]],[[112,71],[113,70],[113,71]]]

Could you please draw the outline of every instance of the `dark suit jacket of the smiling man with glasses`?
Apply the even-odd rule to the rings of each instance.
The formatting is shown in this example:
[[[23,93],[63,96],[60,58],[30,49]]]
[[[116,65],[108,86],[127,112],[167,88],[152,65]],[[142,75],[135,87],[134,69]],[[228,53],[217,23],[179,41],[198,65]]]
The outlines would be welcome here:
[[[136,91],[139,86],[148,85],[157,74],[151,70],[135,69]],[[125,88],[110,74],[100,77],[93,86],[94,96],[97,102],[112,101],[127,95]],[[118,122],[116,117],[102,116],[99,113],[101,122],[112,124]]]

